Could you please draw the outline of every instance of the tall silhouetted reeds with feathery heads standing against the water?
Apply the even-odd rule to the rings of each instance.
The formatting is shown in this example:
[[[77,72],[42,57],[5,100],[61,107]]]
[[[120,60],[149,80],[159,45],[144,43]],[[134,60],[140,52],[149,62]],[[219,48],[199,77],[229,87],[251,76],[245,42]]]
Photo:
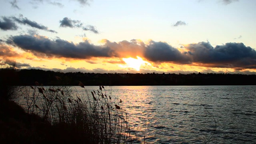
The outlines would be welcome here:
[[[64,142],[91,144],[123,144],[134,142],[130,133],[128,116],[120,102],[112,102],[112,93],[107,94],[104,86],[78,94],[69,86],[21,88],[26,99],[26,112],[39,115],[45,123],[52,125]],[[61,133],[61,134],[60,134]],[[58,138],[55,134],[53,139]]]

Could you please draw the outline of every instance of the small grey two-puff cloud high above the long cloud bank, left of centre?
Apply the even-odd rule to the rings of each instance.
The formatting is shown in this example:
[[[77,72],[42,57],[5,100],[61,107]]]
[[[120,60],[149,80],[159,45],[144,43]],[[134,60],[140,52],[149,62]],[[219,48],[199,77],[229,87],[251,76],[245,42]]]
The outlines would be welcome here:
[[[82,28],[83,30],[89,30],[91,32],[94,32],[95,34],[98,34],[98,30],[95,28],[95,26],[87,25],[84,26],[84,24],[80,20],[71,20],[70,18],[63,18],[60,20],[60,27],[70,27],[70,28]]]

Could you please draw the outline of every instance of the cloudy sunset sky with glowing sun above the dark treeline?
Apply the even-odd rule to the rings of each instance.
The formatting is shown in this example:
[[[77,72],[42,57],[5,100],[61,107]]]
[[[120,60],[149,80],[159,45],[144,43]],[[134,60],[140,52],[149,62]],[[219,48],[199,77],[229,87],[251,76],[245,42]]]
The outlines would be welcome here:
[[[0,64],[256,74],[256,0],[1,0]]]

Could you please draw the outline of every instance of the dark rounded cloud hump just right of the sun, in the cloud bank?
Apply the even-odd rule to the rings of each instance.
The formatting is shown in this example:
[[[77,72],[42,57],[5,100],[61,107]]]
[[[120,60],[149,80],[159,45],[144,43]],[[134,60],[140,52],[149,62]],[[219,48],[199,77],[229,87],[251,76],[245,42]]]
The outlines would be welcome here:
[[[182,54],[177,48],[174,48],[166,42],[151,41],[146,47],[145,58],[153,62],[178,62],[190,63],[186,54]]]

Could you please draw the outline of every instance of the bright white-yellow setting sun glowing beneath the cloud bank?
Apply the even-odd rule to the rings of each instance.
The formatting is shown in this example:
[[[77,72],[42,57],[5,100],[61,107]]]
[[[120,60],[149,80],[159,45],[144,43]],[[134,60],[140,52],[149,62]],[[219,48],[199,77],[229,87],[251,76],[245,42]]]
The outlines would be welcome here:
[[[126,65],[122,65],[121,67],[133,68],[134,70],[137,70],[137,71],[140,71],[140,66],[142,64],[150,64],[149,62],[142,60],[142,58],[140,58],[139,56],[137,56],[137,59],[136,58],[122,58],[122,60],[124,60]]]

